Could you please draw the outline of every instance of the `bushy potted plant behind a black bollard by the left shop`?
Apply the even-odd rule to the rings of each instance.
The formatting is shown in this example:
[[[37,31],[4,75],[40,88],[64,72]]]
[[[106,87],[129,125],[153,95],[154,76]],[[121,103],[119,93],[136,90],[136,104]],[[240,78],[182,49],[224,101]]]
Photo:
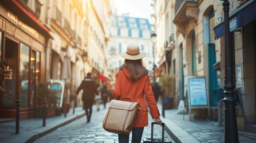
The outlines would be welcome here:
[[[35,111],[35,116],[37,118],[43,117],[43,107],[44,107],[44,100],[45,97],[47,98],[46,103],[46,117],[53,117],[55,116],[55,105],[57,102],[57,96],[55,95],[56,92],[50,90],[48,88],[49,83],[47,82],[39,82],[37,84],[37,108]]]

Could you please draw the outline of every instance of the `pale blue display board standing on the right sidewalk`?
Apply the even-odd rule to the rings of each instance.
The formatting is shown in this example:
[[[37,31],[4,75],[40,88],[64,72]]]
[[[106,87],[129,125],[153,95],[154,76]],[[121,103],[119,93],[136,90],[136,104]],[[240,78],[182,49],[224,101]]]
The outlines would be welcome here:
[[[208,108],[209,99],[207,98],[205,77],[188,76],[187,99],[191,121],[191,109]]]

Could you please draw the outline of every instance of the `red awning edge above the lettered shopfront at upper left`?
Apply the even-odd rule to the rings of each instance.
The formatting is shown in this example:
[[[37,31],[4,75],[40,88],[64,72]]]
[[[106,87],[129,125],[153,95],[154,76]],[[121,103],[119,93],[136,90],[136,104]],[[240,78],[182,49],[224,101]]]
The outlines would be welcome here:
[[[46,33],[48,33],[48,35],[52,38],[53,36],[51,35],[49,29],[47,29],[47,27],[45,27],[45,25],[43,25],[42,23],[40,23],[36,17],[34,17],[32,14],[30,14],[29,12],[27,12],[27,10],[25,10],[25,8],[23,8],[23,6],[21,6],[19,4],[19,2],[17,2],[16,0],[12,0],[12,2],[14,3],[14,5],[16,6],[16,8],[18,8],[18,10],[20,10],[21,12],[23,12],[24,14],[26,14],[28,17],[30,17],[39,27],[41,27]]]

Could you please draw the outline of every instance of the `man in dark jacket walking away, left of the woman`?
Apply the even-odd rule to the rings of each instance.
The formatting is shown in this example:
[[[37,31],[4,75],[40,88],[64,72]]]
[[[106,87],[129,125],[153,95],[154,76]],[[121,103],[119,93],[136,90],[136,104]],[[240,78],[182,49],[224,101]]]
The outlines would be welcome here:
[[[87,73],[87,77],[84,78],[76,90],[76,95],[78,95],[79,91],[83,89],[82,100],[84,101],[84,109],[87,116],[87,122],[90,122],[92,116],[92,105],[94,103],[95,94],[99,94],[96,89],[95,81],[92,79],[91,75],[92,73]]]

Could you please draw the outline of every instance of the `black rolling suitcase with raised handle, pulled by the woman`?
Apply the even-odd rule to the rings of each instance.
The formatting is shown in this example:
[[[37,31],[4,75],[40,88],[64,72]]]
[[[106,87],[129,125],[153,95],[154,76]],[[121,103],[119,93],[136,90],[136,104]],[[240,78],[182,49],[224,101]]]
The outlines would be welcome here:
[[[162,123],[162,139],[154,139],[153,138],[153,126],[156,122],[151,123],[151,138],[145,138],[143,143],[172,143],[168,139],[164,139],[164,123]]]

